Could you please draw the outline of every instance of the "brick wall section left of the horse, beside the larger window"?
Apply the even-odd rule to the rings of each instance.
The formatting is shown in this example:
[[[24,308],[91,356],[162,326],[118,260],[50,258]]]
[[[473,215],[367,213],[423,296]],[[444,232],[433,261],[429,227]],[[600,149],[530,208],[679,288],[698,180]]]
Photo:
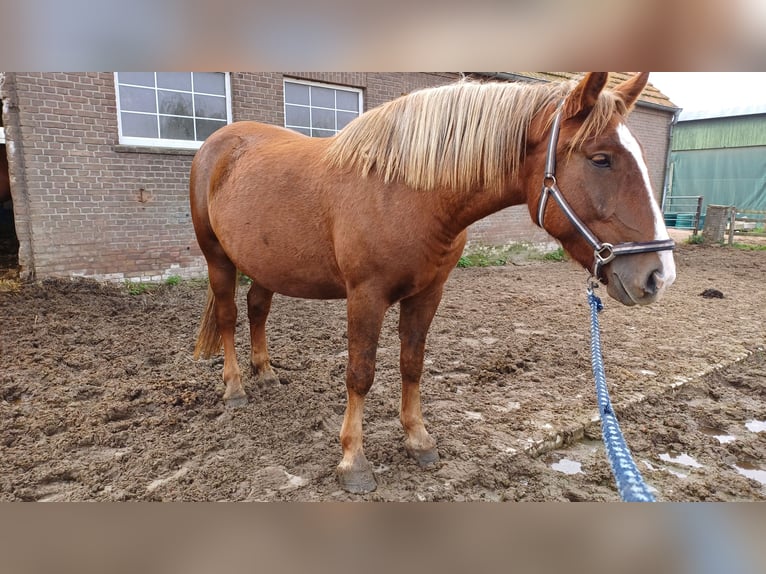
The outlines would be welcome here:
[[[189,152],[118,145],[111,73],[15,74],[31,261],[37,277],[199,273]],[[10,138],[9,138],[10,139]],[[19,237],[22,240],[22,237]]]

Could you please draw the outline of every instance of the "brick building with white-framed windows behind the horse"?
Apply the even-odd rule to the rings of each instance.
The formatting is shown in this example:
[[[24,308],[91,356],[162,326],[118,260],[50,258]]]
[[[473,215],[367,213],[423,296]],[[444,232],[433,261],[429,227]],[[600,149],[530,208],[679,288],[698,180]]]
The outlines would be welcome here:
[[[356,114],[459,73],[0,74],[0,266],[23,278],[153,280],[204,274],[188,207],[202,140],[232,121],[331,135]],[[572,74],[481,74],[556,81]],[[618,74],[618,77],[620,75]],[[613,80],[614,81],[614,80]],[[675,108],[649,86],[630,120],[652,183],[664,187]],[[0,173],[2,181],[3,173]],[[526,207],[474,224],[473,242],[549,243]]]

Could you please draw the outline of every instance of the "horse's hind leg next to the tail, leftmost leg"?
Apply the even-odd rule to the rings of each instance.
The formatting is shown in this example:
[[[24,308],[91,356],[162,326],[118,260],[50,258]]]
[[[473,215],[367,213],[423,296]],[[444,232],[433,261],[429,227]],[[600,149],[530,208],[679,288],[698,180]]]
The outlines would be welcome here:
[[[234,300],[237,269],[228,258],[215,262],[208,260],[208,276],[210,288],[215,295],[215,319],[223,342],[223,382],[226,385],[223,401],[227,407],[239,407],[247,403],[247,395],[242,387],[242,375],[234,348],[234,330],[237,325],[237,304]]]

